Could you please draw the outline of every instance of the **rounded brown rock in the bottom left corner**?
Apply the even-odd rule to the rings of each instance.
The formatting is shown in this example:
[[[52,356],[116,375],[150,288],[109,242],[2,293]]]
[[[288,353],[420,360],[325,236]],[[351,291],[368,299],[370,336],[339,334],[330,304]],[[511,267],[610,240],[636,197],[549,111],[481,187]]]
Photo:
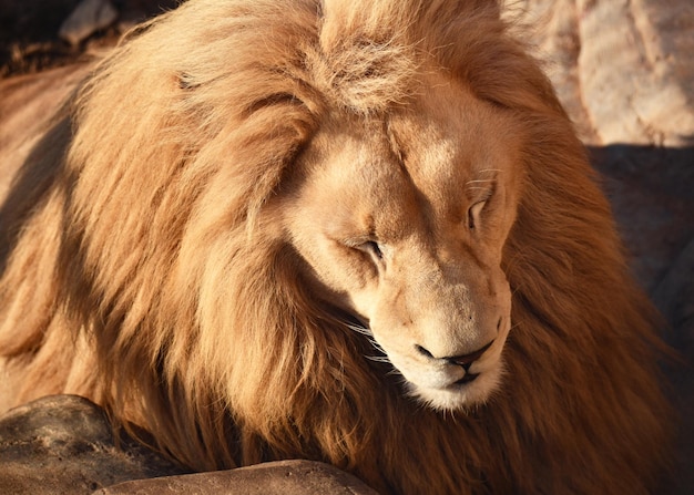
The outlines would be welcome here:
[[[104,486],[185,473],[159,454],[121,439],[104,412],[75,395],[54,395],[0,417],[0,493],[89,494]]]

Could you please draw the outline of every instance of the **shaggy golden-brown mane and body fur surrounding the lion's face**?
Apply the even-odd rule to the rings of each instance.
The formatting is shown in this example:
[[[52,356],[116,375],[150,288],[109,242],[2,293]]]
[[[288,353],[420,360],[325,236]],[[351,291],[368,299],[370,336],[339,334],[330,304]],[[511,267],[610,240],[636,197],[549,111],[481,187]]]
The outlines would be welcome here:
[[[407,112],[432,72],[516,123],[522,182],[506,373],[446,413],[366,358],[278,224],[315,135]],[[644,494],[663,468],[651,307],[492,1],[191,0],[81,84],[0,225],[8,393],[90,396],[195,470],[303,457],[382,493]]]

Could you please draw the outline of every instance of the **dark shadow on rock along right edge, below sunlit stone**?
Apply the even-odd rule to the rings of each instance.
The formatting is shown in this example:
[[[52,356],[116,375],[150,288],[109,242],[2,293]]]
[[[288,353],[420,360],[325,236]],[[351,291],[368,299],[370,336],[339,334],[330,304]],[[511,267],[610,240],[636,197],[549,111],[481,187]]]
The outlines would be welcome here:
[[[664,316],[664,338],[683,358],[666,373],[680,414],[677,489],[694,487],[694,147],[611,145],[590,149],[604,177],[633,270]]]

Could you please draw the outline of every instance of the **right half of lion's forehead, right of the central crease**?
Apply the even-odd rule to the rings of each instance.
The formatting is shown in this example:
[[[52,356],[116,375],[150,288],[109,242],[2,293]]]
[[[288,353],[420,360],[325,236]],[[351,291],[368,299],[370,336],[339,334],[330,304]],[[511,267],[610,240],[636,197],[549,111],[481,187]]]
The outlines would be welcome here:
[[[513,116],[452,81],[436,84],[389,121],[391,140],[420,190],[446,204],[470,181],[508,176],[518,165]]]

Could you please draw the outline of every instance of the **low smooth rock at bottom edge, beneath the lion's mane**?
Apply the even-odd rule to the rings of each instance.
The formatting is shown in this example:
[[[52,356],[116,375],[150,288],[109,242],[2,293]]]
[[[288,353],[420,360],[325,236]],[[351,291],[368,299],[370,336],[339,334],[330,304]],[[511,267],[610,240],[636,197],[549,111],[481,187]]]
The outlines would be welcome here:
[[[125,482],[99,495],[376,495],[356,477],[328,464],[279,461],[214,473]]]

